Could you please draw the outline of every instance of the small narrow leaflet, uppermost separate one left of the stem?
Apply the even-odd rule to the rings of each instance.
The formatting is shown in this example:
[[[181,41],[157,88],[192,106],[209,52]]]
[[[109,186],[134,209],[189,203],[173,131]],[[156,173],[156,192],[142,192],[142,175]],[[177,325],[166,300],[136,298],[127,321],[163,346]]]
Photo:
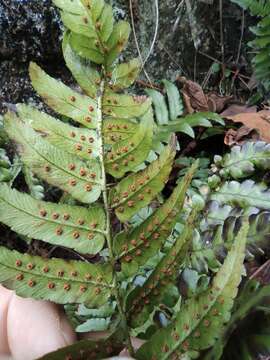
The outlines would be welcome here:
[[[90,65],[89,62],[83,61],[72,50],[69,43],[69,34],[65,33],[62,44],[65,63],[72,75],[80,85],[81,89],[91,98],[97,97],[97,89],[100,83],[99,72]]]

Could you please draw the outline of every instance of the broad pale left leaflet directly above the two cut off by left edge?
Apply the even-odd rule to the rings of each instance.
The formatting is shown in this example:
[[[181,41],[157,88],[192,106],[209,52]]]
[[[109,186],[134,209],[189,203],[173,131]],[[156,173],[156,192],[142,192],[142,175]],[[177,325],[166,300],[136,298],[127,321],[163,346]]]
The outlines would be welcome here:
[[[11,113],[5,116],[5,129],[10,138],[19,144],[22,161],[40,178],[83,203],[91,203],[99,198],[101,174],[97,160],[84,163],[55,148]],[[91,177],[91,174],[95,174],[95,177]]]

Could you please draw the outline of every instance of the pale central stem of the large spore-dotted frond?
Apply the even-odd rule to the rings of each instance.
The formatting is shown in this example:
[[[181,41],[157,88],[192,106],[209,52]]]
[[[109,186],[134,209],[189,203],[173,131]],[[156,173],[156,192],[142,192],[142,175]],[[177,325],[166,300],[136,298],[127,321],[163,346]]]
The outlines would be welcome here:
[[[127,318],[126,318],[126,315],[125,315],[123,302],[122,302],[120,291],[119,291],[117,272],[115,270],[115,256],[114,256],[114,253],[113,253],[113,246],[112,246],[111,220],[110,220],[111,216],[110,216],[110,208],[109,208],[109,201],[108,201],[107,179],[106,179],[106,170],[105,170],[105,162],[104,162],[104,153],[105,153],[105,151],[104,151],[104,143],[103,143],[103,137],[102,137],[102,119],[103,119],[103,116],[102,116],[102,97],[103,97],[103,93],[104,93],[104,82],[102,82],[101,85],[100,85],[100,93],[98,95],[98,101],[97,101],[97,103],[98,103],[98,109],[97,109],[97,115],[98,115],[97,133],[98,133],[98,138],[99,138],[99,141],[100,141],[100,164],[101,164],[101,175],[102,175],[101,178],[103,180],[102,196],[103,196],[104,209],[105,209],[105,213],[106,213],[105,237],[106,237],[107,244],[108,244],[108,249],[109,249],[109,257],[110,257],[110,263],[111,263],[111,266],[112,266],[112,274],[113,274],[113,288],[114,288],[114,293],[115,293],[117,306],[118,306],[119,313],[120,313],[120,316],[121,316],[121,323],[122,323],[123,329],[124,329],[125,334],[126,334],[128,351],[129,351],[131,356],[134,356],[134,349],[133,349],[131,338],[130,338],[129,327],[127,325]]]

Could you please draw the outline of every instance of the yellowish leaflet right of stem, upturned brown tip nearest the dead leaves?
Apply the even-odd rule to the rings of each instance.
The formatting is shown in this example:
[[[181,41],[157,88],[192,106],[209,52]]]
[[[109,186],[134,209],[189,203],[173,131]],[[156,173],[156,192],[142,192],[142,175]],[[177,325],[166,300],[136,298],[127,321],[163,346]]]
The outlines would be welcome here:
[[[146,169],[121,180],[110,193],[110,203],[120,221],[127,221],[147,206],[163,189],[175,157],[175,137],[159,159]]]

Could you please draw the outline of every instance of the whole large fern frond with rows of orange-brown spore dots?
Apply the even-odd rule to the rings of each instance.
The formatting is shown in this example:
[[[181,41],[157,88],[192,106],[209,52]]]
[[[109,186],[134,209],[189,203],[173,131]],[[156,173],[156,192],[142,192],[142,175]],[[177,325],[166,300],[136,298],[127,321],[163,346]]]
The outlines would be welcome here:
[[[247,226],[211,287],[181,305],[170,324],[156,327],[134,353],[131,335],[140,333],[138,328],[166,304],[168,294],[171,307],[180,305],[176,280],[188,255],[196,210],[185,215],[178,236],[173,229],[196,164],[166,201],[148,207],[161,199],[176,138],[166,137],[159,157],[145,163],[155,132],[151,100],[125,92],[140,70],[138,60],[116,62],[128,41],[129,24],[115,23],[111,6],[103,0],[54,3],[67,28],[64,58],[82,92],[32,63],[33,87],[61,120],[18,104],[16,112],[5,115],[4,127],[31,174],[73,202],[67,203],[64,196],[58,204],[51,203],[1,184],[0,221],[26,241],[34,238],[71,249],[81,260],[44,259],[1,247],[0,281],[20,296],[81,304],[81,314],[95,312],[109,319],[107,338],[80,341],[44,359],[102,359],[125,346],[137,359],[197,356],[212,346],[229,319],[242,274]],[[142,209],[149,210],[147,216],[133,226],[131,220]],[[91,263],[89,254],[100,256]],[[149,261],[154,262],[146,267]],[[134,279],[142,269],[152,272],[139,284]]]

